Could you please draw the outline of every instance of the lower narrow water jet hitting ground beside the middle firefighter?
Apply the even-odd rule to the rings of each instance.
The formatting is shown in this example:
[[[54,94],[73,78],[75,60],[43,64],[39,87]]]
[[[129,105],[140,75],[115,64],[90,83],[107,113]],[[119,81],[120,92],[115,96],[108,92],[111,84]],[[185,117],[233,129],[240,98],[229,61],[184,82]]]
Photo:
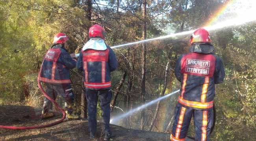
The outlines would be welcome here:
[[[120,116],[113,117],[113,118],[110,119],[110,123],[111,123],[111,124],[115,124],[115,122],[119,121],[120,119],[122,119],[122,118],[124,118],[124,117],[126,117],[126,116],[129,116],[129,115],[133,114],[134,112],[137,112],[137,111],[139,111],[139,110],[142,110],[142,109],[144,109],[144,108],[146,108],[146,107],[148,107],[148,106],[150,106],[150,105],[152,105],[152,104],[154,104],[154,103],[156,103],[156,102],[158,102],[158,101],[160,101],[160,100],[163,100],[163,99],[165,99],[165,98],[168,98],[169,96],[172,96],[173,94],[176,94],[176,93],[179,92],[179,91],[180,91],[180,90],[176,90],[176,91],[174,91],[174,92],[171,92],[170,94],[167,94],[167,95],[165,95],[165,96],[162,96],[162,97],[160,97],[160,98],[157,98],[157,99],[155,99],[155,100],[152,100],[152,101],[150,101],[150,102],[148,102],[148,103],[145,103],[145,104],[143,104],[143,105],[141,105],[141,106],[139,106],[139,107],[137,107],[137,108],[134,108],[134,109],[128,111],[127,113],[124,113],[124,114],[122,114],[122,115],[120,115]]]

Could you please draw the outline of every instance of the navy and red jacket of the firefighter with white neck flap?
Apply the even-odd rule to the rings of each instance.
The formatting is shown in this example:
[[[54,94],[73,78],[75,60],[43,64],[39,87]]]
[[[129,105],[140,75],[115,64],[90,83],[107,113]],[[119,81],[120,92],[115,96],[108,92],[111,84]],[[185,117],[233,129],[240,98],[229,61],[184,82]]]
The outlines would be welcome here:
[[[111,89],[110,72],[117,69],[117,58],[113,50],[86,49],[80,51],[76,68],[83,72],[83,83],[87,89]]]

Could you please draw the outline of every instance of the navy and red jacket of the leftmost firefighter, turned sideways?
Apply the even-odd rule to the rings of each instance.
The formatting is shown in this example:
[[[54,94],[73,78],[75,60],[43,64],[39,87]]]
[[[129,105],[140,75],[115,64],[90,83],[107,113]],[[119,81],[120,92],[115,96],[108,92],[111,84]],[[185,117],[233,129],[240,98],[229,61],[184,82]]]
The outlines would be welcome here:
[[[54,84],[71,83],[69,69],[74,67],[76,67],[76,59],[71,58],[61,44],[56,44],[45,54],[38,79]]]

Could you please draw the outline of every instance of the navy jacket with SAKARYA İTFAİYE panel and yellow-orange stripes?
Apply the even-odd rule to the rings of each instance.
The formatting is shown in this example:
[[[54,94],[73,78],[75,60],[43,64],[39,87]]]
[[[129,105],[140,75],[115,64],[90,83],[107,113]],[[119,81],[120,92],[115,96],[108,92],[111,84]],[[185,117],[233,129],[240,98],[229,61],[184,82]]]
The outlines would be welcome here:
[[[178,104],[195,109],[213,107],[215,84],[223,82],[225,72],[221,59],[212,51],[208,43],[194,43],[189,53],[178,58],[174,70],[181,82]]]

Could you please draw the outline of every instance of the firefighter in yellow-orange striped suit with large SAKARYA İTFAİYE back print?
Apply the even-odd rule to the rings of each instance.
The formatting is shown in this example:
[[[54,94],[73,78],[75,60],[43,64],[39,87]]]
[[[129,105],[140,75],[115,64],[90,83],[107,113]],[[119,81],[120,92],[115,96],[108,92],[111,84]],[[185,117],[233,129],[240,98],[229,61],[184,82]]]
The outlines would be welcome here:
[[[223,83],[224,67],[213,53],[208,31],[197,29],[190,44],[189,53],[182,54],[175,65],[175,76],[181,82],[181,89],[170,139],[184,141],[193,116],[195,140],[210,141],[215,84]]]

